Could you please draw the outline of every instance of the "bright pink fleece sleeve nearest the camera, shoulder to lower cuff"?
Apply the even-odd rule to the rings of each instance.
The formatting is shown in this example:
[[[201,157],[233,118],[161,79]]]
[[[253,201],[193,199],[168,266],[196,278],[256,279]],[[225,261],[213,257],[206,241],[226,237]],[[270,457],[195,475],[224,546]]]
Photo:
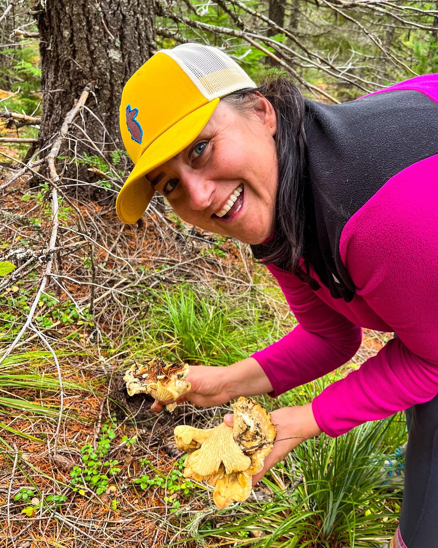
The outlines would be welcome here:
[[[437,204],[438,155],[389,179],[344,227],[357,292],[398,338],[313,400],[330,436],[438,394]]]

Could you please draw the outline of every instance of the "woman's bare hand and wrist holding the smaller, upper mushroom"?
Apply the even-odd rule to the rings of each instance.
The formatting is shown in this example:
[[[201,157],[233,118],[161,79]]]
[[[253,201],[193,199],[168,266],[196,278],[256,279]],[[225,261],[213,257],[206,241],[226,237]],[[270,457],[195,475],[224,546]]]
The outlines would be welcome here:
[[[250,357],[232,366],[189,366],[186,380],[191,389],[176,402],[192,402],[199,407],[214,407],[239,396],[257,396],[273,391],[263,369]],[[173,400],[159,402],[155,399],[152,411],[160,412]]]

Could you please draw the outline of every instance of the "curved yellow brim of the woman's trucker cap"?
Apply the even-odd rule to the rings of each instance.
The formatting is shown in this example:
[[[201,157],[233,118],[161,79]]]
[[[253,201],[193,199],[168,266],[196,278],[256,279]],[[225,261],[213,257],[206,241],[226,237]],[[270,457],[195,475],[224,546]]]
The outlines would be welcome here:
[[[189,113],[147,147],[117,196],[116,211],[121,221],[132,224],[145,213],[154,195],[145,175],[191,144],[209,121],[218,102],[219,99],[213,99]]]

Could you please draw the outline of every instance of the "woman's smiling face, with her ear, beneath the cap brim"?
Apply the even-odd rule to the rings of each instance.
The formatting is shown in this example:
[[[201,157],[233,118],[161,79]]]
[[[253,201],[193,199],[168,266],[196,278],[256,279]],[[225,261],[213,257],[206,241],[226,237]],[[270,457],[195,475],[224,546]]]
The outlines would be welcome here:
[[[274,227],[275,112],[258,94],[239,112],[220,101],[186,149],[147,174],[175,212],[201,229],[257,244]]]

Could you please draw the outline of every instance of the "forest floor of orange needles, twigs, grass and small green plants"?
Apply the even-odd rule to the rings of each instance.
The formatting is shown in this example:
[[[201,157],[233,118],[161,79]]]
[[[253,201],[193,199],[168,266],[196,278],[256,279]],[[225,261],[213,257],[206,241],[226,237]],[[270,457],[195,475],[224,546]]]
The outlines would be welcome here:
[[[44,185],[32,188],[21,179],[3,190],[4,256],[13,249],[38,251],[46,246],[51,229],[47,193]],[[297,544],[295,511],[292,503],[285,506],[281,493],[292,489],[297,477],[302,496],[308,496],[310,482],[296,476],[294,468],[302,456],[292,456],[273,471],[245,505],[217,511],[206,486],[182,478],[183,455],[175,447],[173,430],[183,423],[219,424],[228,407],[184,404],[173,414],[154,414],[151,398],[129,398],[124,390],[125,369],[147,356],[221,366],[290,330],[295,319],[266,269],[253,262],[245,247],[185,225],[160,203],[134,226],[122,225],[107,199],[90,202],[61,194],[59,204],[53,276],[9,355],[7,349],[38,295],[44,259],[35,260],[9,288],[0,289],[2,545],[192,547],[256,542],[346,547],[347,541],[335,540],[344,533],[336,532],[327,533],[328,544],[320,544],[324,537],[318,535],[313,540],[301,536]],[[5,260],[15,269],[22,264],[16,255]],[[190,320],[186,324],[183,310]],[[391,336],[364,330],[356,356],[331,378],[359,366]],[[286,396],[298,403],[307,392]],[[286,400],[263,401],[272,407]],[[397,444],[399,434],[391,436]],[[385,442],[385,447],[390,444]],[[376,455],[368,460],[374,462]],[[372,495],[379,500],[367,503],[369,511],[382,518],[382,528],[371,535],[376,543],[389,538],[396,523],[393,512],[400,494],[388,493],[384,498],[381,492]],[[307,508],[308,516],[304,498],[299,504],[294,500],[300,511]],[[361,504],[361,516],[366,515],[366,504]],[[374,522],[376,518],[374,514]],[[310,523],[302,519],[304,525]],[[290,529],[282,531],[285,521]],[[349,524],[339,523],[342,530],[348,529]],[[322,530],[318,516],[310,525],[308,530]],[[303,530],[299,535],[309,534]],[[361,538],[355,546],[362,546]]]

